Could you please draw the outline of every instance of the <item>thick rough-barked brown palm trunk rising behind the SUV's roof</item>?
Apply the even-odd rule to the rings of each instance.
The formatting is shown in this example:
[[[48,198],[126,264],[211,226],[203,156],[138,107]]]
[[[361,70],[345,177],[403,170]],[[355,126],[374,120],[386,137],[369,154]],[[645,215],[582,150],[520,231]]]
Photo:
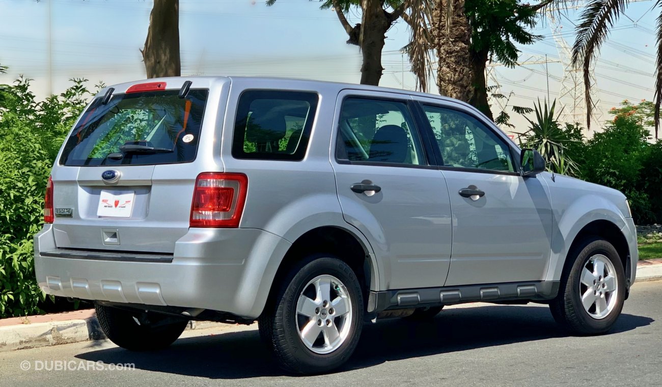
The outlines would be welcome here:
[[[432,34],[439,58],[439,93],[460,101],[471,101],[475,93],[472,84],[471,26],[465,15],[464,0],[436,0],[432,13]]]

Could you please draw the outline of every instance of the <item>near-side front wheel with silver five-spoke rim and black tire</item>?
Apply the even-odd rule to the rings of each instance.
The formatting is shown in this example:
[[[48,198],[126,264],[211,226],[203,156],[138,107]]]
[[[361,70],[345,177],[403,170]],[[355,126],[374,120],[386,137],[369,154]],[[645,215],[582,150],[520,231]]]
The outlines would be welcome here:
[[[625,301],[622,261],[614,246],[598,237],[583,241],[569,259],[573,255],[573,265],[563,271],[559,294],[549,303],[551,314],[575,335],[605,333]]]

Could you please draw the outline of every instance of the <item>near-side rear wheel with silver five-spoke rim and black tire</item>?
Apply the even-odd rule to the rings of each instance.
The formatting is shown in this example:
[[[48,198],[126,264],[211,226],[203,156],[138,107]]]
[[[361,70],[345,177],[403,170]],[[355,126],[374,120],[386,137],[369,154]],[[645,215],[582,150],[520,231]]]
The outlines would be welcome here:
[[[258,320],[279,365],[319,374],[354,353],[363,327],[363,294],[354,271],[330,255],[296,265]]]

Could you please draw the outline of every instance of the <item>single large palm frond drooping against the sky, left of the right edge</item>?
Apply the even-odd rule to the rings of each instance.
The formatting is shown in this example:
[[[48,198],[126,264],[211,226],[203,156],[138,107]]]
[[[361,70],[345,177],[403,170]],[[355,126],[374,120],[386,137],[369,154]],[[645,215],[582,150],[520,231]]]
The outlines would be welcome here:
[[[610,28],[628,6],[628,0],[591,0],[581,13],[573,44],[573,64],[582,64],[586,99],[587,129],[591,128],[591,61],[600,51]]]

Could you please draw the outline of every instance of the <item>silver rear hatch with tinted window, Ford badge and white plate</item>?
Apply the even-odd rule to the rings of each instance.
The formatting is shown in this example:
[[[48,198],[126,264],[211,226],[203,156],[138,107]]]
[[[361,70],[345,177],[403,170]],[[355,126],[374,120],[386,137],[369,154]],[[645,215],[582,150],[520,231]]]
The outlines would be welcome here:
[[[173,253],[188,232],[209,90],[165,86],[102,95],[79,118],[52,173],[58,248]]]

